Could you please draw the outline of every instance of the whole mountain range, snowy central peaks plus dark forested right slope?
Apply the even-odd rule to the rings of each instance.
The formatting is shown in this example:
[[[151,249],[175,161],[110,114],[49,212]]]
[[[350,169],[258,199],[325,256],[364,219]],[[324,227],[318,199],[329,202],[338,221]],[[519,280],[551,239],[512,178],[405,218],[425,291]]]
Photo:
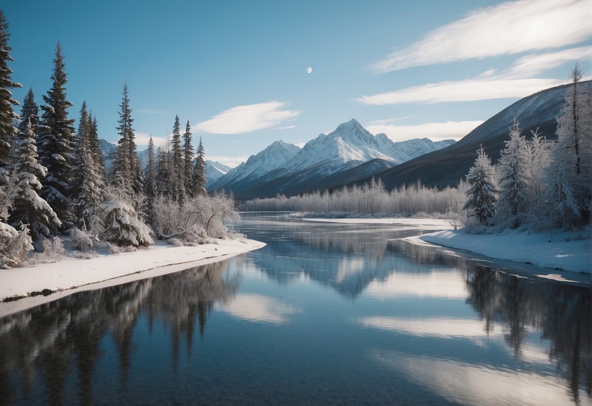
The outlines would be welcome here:
[[[581,82],[592,87],[592,81]],[[493,163],[497,162],[509,128],[519,120],[523,134],[539,129],[554,139],[556,117],[565,105],[570,85],[558,86],[527,96],[485,121],[460,141],[431,141],[428,138],[393,142],[385,134],[373,136],[356,120],[340,124],[330,134],[320,134],[303,148],[275,141],[252,155],[246,162],[230,168],[206,161],[208,191],[232,192],[237,199],[296,195],[345,185],[362,185],[372,177],[381,178],[387,189],[418,180],[424,185],[444,188],[466,175],[482,145]],[[117,146],[100,140],[105,166]],[[142,166],[147,150],[138,153]]]

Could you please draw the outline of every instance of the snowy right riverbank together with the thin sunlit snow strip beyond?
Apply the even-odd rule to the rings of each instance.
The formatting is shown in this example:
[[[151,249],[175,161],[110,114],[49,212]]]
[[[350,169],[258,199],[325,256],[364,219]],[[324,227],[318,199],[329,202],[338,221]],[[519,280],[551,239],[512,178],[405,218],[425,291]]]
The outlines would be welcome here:
[[[581,240],[583,231],[561,231],[528,234],[508,231],[503,234],[465,234],[452,230],[453,220],[430,218],[305,218],[308,221],[326,221],[345,224],[389,224],[422,230],[442,230],[405,240],[419,244],[437,244],[474,252],[494,259],[532,263],[542,268],[592,273],[592,245],[590,239]],[[551,242],[549,242],[551,241]]]

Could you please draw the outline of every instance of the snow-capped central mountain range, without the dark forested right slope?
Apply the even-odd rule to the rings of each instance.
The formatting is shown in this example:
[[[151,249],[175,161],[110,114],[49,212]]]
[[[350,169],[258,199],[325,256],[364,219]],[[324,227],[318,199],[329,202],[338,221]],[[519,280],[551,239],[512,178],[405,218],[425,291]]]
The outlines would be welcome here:
[[[225,189],[238,198],[291,195],[327,187],[327,182],[336,182],[340,174],[348,178],[353,173],[368,173],[373,166],[355,168],[369,161],[375,160],[374,167],[387,169],[454,142],[434,143],[423,138],[394,143],[385,134],[373,136],[352,119],[308,141],[303,149],[276,141],[230,170],[208,190]]]

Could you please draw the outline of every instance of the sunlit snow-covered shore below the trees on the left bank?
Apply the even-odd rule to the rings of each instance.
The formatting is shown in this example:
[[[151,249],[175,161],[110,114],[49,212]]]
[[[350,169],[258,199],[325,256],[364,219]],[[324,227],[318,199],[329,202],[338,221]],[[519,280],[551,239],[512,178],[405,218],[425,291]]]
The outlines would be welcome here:
[[[91,259],[68,258],[30,268],[1,269],[0,301],[6,298],[26,297],[31,292],[42,292],[44,289],[52,292],[75,289],[114,278],[118,279],[111,284],[151,278],[201,265],[204,260],[222,260],[263,246],[264,243],[247,239],[215,240],[214,244],[181,247],[156,244],[146,250]],[[183,265],[173,266],[178,264]],[[121,278],[122,276],[126,278]]]

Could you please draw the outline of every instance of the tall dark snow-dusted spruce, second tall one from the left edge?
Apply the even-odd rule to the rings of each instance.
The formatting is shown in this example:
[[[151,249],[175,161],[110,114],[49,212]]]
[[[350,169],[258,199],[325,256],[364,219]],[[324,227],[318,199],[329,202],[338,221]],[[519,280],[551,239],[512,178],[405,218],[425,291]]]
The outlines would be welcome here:
[[[41,106],[41,130],[37,134],[39,162],[47,168],[47,176],[41,182],[41,198],[56,212],[62,228],[69,228],[73,218],[73,206],[69,194],[72,183],[74,120],[68,118],[67,109],[72,103],[66,99],[67,78],[64,71],[62,46],[57,43],[53,60],[52,88],[43,95],[46,103]],[[52,228],[57,234],[57,228]]]

